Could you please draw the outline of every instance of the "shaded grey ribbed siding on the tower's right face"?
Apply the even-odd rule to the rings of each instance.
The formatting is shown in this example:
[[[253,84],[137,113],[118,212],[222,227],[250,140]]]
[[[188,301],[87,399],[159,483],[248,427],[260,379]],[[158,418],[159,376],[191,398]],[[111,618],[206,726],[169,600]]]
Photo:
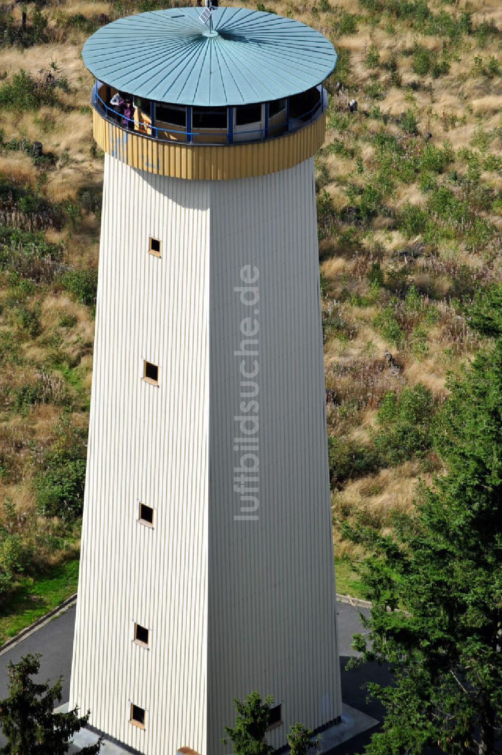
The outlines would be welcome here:
[[[257,522],[234,521],[239,271],[260,277]],[[340,715],[313,159],[211,186],[208,753],[257,688],[292,723]],[[223,672],[224,669],[224,672]],[[227,751],[227,750],[225,750]]]

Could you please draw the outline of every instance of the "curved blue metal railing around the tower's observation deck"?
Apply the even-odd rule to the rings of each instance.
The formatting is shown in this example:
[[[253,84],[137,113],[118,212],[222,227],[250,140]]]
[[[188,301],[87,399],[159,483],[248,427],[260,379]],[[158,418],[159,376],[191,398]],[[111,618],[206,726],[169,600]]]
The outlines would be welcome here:
[[[235,128],[233,131],[231,131],[229,128],[227,128],[226,130],[221,129],[220,131],[208,131],[205,128],[199,129],[199,131],[193,131],[193,129],[187,130],[186,128],[165,128],[165,126],[156,126],[148,122],[134,121],[134,119],[126,118],[124,113],[119,112],[118,110],[114,110],[101,99],[97,91],[97,82],[94,83],[91,91],[91,104],[95,109],[97,109],[97,112],[100,112],[100,115],[104,115],[105,119],[113,125],[119,126],[119,128],[122,128],[124,131],[131,131],[140,134],[147,139],[150,138],[156,141],[165,142],[176,140],[178,143],[193,143],[194,137],[196,137],[196,144],[211,144],[212,146],[217,146],[219,143],[246,143],[263,141],[264,139],[273,138],[274,134],[271,134],[271,132],[273,131],[275,131],[279,136],[280,134],[298,131],[300,128],[303,128],[303,126],[306,126],[318,119],[319,115],[321,115],[322,112],[325,112],[327,97],[325,96],[324,87],[321,86],[319,88],[319,93],[319,102],[317,102],[316,105],[313,106],[313,108],[307,110],[302,115],[291,117],[289,114],[289,108],[287,107],[285,121],[272,126],[267,124],[267,128],[252,129],[250,131],[241,131],[240,129],[239,131],[235,131]],[[149,129],[151,133],[147,134],[146,129]],[[162,132],[162,134],[177,134],[178,136],[182,136],[183,138],[181,139],[174,137],[173,139],[171,139],[163,135],[159,136],[159,132]],[[247,135],[248,138],[242,138],[246,137]],[[201,141],[201,137],[205,140],[208,139],[208,141]],[[211,137],[216,137],[216,139],[214,141],[211,141]],[[221,141],[222,137],[226,137],[225,142]]]

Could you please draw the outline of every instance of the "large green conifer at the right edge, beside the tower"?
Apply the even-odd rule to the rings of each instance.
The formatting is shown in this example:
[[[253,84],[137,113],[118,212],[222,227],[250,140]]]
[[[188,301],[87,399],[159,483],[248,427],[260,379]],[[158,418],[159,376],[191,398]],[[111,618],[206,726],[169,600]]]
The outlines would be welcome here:
[[[494,752],[502,723],[502,288],[476,300],[472,327],[497,341],[457,377],[433,428],[446,472],[422,486],[392,535],[357,524],[371,553],[362,578],[371,616],[354,647],[390,664],[368,685],[386,709],[368,755]]]

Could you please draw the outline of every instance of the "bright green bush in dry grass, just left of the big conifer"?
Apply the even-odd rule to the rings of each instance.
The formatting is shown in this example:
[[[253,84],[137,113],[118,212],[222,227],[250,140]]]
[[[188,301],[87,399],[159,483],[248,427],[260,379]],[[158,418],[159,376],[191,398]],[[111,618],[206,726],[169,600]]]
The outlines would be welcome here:
[[[379,429],[373,437],[382,466],[423,456],[430,449],[435,405],[433,394],[420,383],[383,397],[377,414]]]

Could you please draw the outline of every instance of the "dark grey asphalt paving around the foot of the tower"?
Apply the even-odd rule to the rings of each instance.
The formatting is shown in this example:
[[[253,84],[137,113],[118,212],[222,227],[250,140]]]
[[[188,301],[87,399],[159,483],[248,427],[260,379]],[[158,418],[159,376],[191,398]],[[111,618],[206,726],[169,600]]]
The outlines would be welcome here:
[[[376,701],[367,701],[364,689],[365,682],[378,680],[385,683],[389,676],[383,667],[377,664],[364,664],[356,670],[346,670],[346,662],[353,655],[357,655],[350,647],[354,633],[361,631],[359,612],[367,613],[365,609],[350,606],[347,603],[337,603],[338,638],[340,650],[340,673],[342,682],[343,702],[362,710],[368,716],[381,720],[381,708]],[[0,699],[8,692],[8,662],[17,663],[27,653],[41,653],[40,672],[38,682],[49,680],[54,683],[63,676],[63,699],[69,699],[69,677],[72,664],[73,629],[75,625],[75,607],[53,618],[48,624],[36,630],[23,639],[18,645],[8,649],[0,655]],[[332,750],[332,755],[356,755],[371,738],[368,732],[340,744]],[[5,744],[0,735],[0,745]]]

